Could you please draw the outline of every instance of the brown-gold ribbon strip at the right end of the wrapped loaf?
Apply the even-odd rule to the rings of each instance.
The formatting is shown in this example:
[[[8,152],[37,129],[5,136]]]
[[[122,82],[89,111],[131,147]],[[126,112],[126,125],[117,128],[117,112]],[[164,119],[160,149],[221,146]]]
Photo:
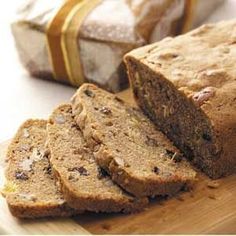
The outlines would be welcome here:
[[[194,10],[197,4],[198,0],[185,0],[185,12],[181,33],[186,33],[191,29],[194,19]]]

